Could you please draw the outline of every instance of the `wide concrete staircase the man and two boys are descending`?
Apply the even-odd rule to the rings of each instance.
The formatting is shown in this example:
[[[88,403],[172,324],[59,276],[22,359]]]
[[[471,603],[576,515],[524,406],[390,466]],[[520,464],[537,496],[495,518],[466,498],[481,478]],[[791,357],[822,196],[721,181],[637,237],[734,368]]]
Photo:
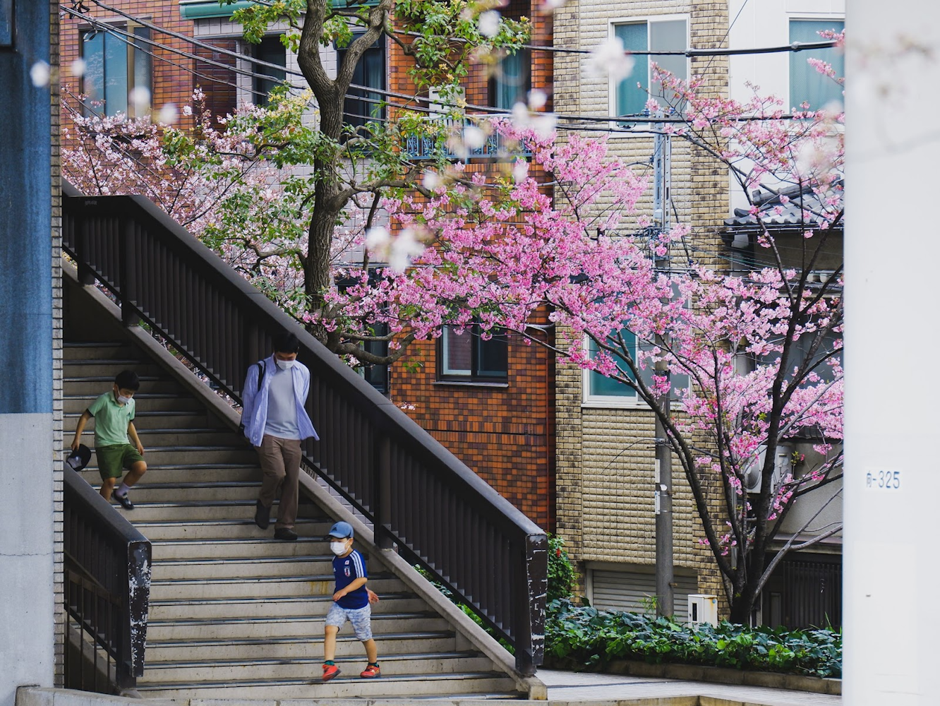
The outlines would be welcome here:
[[[149,468],[131,493],[136,509],[114,507],[153,543],[142,696],[525,696],[525,680],[481,651],[479,635],[465,636],[446,606],[435,609],[433,596],[419,597],[414,577],[402,580],[401,567],[393,571],[395,562],[367,544],[358,548],[368,559],[368,586],[381,598],[372,629],[383,676],[359,678],[365,654],[347,625],[337,642],[342,674],[321,683],[323,620],[333,592],[323,535],[337,512],[328,516],[322,502],[302,492],[299,541],[275,541],[273,529],[261,531],[252,521],[260,482],[255,452],[231,428],[230,414],[181,384],[178,361],[170,361],[174,372],[132,336],[67,342],[64,358],[67,440],[119,370],[134,369],[141,378],[134,424]],[[83,437],[88,447],[93,429],[92,421]],[[93,456],[83,476],[97,488],[96,463]]]

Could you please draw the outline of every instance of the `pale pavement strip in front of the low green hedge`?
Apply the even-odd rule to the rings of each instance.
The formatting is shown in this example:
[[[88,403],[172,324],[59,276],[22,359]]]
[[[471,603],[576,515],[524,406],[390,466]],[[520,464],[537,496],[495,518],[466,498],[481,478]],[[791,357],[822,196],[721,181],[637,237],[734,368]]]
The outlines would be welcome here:
[[[549,701],[634,701],[664,706],[672,699],[708,697],[716,703],[747,706],[841,706],[842,698],[805,691],[786,691],[762,686],[736,686],[708,682],[681,682],[672,679],[650,679],[624,674],[540,669],[539,679],[548,687]],[[658,700],[657,699],[662,699]],[[643,703],[644,701],[638,701]],[[682,701],[677,700],[677,706]],[[685,703],[696,703],[686,701]]]

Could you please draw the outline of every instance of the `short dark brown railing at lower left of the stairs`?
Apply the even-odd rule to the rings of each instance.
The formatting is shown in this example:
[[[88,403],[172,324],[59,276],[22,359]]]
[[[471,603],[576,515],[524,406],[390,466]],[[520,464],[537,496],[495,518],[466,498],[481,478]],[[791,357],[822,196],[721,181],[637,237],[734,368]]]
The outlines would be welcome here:
[[[150,542],[65,469],[65,686],[103,694],[144,674]]]

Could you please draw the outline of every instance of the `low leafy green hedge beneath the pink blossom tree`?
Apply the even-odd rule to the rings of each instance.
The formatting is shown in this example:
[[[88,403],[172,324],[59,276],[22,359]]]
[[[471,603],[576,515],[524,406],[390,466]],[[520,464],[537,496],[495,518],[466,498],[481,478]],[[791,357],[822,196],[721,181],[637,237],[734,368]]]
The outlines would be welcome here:
[[[587,668],[615,659],[664,662],[815,677],[840,677],[842,635],[831,630],[788,630],[722,621],[697,629],[668,618],[548,604],[545,651]]]

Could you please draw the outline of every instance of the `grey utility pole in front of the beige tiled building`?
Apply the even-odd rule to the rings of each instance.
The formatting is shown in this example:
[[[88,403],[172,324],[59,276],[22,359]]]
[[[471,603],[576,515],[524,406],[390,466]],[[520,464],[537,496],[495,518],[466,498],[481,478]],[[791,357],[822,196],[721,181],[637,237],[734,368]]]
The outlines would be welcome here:
[[[669,229],[672,143],[669,135],[656,133],[653,145],[653,219],[658,231],[662,233]],[[668,266],[666,260],[666,268]],[[656,342],[662,343],[659,339]],[[669,379],[669,369],[665,361],[656,362],[653,376],[657,387],[666,389],[665,394],[657,397],[656,404],[668,417],[671,389],[667,384],[661,384],[663,377],[666,381]],[[666,426],[659,416],[656,416],[655,433],[653,498],[656,509],[656,615],[671,616],[675,613],[675,579],[672,568],[672,450],[667,443]]]

